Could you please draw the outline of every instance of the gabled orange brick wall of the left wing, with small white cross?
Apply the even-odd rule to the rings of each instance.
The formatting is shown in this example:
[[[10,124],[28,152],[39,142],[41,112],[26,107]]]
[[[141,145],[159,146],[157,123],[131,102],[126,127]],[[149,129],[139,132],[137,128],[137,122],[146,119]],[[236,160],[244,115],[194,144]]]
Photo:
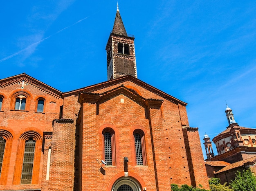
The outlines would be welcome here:
[[[22,79],[0,84],[0,95],[3,97],[0,136],[7,141],[0,190],[41,188],[44,169],[43,132],[52,132],[52,120],[58,118],[59,107],[63,105],[60,95],[51,92],[45,86],[36,85],[33,81],[25,79],[24,88],[21,87]],[[26,108],[14,110],[15,96],[20,94],[27,97]],[[45,100],[43,113],[36,112],[38,98]],[[20,184],[25,141],[29,137],[36,141],[32,184]]]

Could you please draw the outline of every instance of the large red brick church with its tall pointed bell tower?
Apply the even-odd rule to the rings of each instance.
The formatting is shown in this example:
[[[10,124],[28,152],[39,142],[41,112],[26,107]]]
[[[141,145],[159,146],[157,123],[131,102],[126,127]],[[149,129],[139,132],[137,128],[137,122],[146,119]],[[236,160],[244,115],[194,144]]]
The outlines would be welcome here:
[[[61,92],[23,73],[0,80],[0,190],[209,188],[187,103],[137,79],[117,9],[108,81]]]

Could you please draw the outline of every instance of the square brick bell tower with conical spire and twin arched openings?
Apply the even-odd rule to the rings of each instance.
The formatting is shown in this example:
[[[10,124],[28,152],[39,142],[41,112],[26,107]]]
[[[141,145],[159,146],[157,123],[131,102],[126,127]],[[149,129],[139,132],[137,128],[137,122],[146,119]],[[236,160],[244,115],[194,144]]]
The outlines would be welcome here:
[[[108,38],[107,67],[108,80],[132,75],[137,78],[134,36],[127,35],[118,9],[113,30]]]

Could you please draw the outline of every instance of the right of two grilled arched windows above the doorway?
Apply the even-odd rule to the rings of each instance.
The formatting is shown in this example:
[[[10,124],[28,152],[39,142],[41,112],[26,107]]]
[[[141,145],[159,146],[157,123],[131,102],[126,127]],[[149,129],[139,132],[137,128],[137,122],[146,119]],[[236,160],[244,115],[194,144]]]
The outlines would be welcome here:
[[[144,132],[136,130],[134,132],[135,155],[137,165],[146,165],[146,149],[144,143]]]

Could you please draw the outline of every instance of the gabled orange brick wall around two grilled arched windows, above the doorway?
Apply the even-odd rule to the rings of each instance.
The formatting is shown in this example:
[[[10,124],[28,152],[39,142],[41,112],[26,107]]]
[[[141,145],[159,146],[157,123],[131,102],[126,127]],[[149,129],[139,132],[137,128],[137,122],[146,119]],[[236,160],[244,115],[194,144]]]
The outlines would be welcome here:
[[[121,99],[124,99],[124,103],[120,103]],[[98,115],[95,103],[84,103],[83,107],[82,190],[107,190],[112,177],[117,173],[123,173],[124,176],[125,156],[129,159],[128,173],[133,172],[143,177],[147,188],[156,190],[150,129],[145,109],[124,95],[101,103]],[[116,162],[114,166],[102,165],[104,175],[99,171],[101,165],[96,159],[104,159],[102,132],[107,127],[115,132]],[[137,128],[145,133],[146,166],[136,165],[133,131]]]

